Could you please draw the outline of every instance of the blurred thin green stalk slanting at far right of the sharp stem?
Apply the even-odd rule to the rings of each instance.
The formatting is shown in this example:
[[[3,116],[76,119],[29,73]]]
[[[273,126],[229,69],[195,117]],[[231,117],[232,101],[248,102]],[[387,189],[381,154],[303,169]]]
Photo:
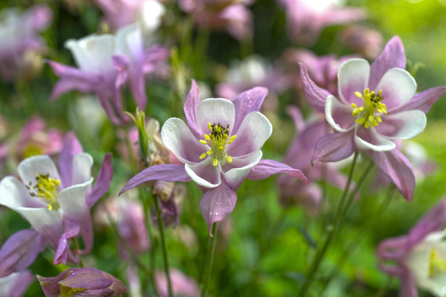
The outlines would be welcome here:
[[[377,211],[373,216],[368,218],[366,220],[366,223],[363,224],[363,227],[359,230],[359,232],[356,234],[353,240],[351,240],[350,244],[347,246],[347,248],[344,249],[342,255],[339,257],[338,261],[336,262],[335,268],[331,270],[330,275],[326,278],[324,283],[322,284],[322,291],[319,294],[319,296],[322,296],[324,293],[326,287],[328,284],[330,284],[330,281],[336,277],[336,275],[339,273],[339,271],[342,269],[344,264],[347,262],[349,256],[355,252],[355,249],[359,246],[359,243],[363,240],[364,234],[368,234],[368,231],[370,228],[372,228],[380,219],[383,213],[387,210],[390,202],[394,198],[394,190],[395,187],[391,185],[388,189],[387,195],[384,198],[384,201],[380,204]]]

